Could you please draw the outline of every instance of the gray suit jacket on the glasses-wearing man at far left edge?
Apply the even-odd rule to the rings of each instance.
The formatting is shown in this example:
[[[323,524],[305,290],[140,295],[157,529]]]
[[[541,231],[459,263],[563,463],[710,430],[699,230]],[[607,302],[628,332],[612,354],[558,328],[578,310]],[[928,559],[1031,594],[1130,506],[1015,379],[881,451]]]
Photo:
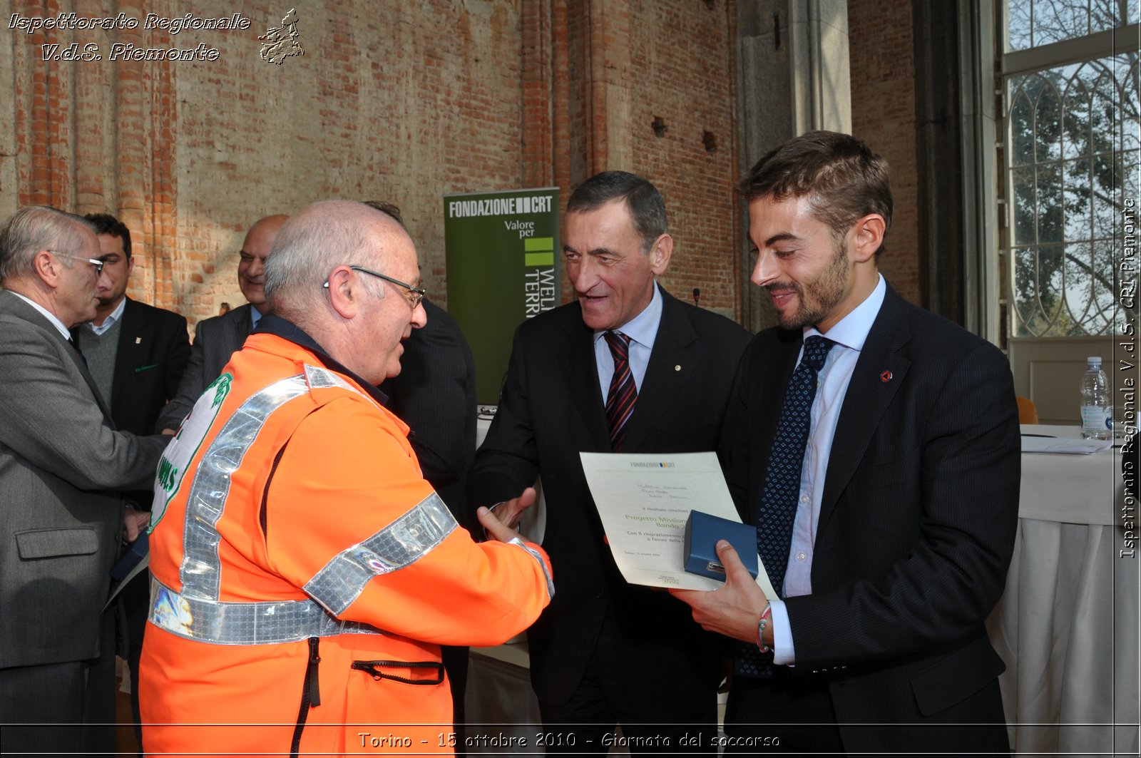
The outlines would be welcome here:
[[[98,654],[115,490],[149,486],[165,443],[116,432],[63,334],[0,291],[0,668]]]

